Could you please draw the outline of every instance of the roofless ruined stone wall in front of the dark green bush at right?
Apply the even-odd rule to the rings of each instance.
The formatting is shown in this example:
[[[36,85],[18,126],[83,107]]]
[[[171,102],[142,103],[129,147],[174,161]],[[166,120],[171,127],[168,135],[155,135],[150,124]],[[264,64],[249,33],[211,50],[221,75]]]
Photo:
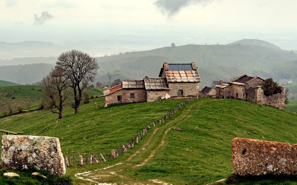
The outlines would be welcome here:
[[[260,86],[257,88],[257,104],[271,105],[279,109],[285,109],[285,87],[282,87],[282,92],[266,97]]]

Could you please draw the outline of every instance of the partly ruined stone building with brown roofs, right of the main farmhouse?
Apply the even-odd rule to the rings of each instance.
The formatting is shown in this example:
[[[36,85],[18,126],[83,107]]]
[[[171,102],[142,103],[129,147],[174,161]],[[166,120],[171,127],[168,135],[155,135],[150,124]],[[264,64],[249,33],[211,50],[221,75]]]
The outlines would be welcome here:
[[[231,82],[223,82],[215,85],[217,98],[234,98],[261,105],[271,105],[279,109],[285,109],[285,87],[280,94],[266,97],[260,86],[265,80],[259,77],[241,75]]]

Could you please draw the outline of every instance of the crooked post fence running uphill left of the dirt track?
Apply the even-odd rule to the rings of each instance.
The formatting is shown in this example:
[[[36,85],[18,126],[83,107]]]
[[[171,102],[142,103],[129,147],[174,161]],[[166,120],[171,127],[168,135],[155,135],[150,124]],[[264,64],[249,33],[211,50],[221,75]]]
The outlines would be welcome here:
[[[172,110],[168,111],[164,116],[162,116],[160,119],[156,119],[154,121],[150,121],[148,124],[146,124],[143,129],[141,129],[139,132],[136,132],[134,134],[134,137],[131,139],[127,139],[125,141],[126,143],[121,144],[119,146],[116,146],[116,149],[108,149],[107,153],[98,153],[94,150],[91,154],[70,154],[65,155],[64,154],[64,161],[66,167],[73,167],[75,165],[89,165],[89,164],[98,164],[102,162],[106,162],[110,159],[115,159],[120,154],[123,154],[127,152],[129,149],[133,148],[140,140],[143,139],[143,137],[147,134],[147,131],[151,129],[152,127],[157,127],[159,124],[162,124],[165,120],[170,118],[173,114],[175,114],[181,106],[187,104],[188,102],[193,101],[194,99],[198,99],[198,96],[196,97],[189,97],[188,99],[183,99],[181,102],[174,107]]]

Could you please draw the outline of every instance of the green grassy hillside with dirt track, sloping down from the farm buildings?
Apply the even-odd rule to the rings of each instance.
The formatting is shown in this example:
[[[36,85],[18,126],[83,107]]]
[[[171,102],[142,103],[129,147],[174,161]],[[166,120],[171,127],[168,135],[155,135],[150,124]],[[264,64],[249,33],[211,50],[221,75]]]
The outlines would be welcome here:
[[[1,119],[0,127],[59,137],[64,154],[104,152],[124,143],[143,124],[159,118],[179,101],[114,105],[99,110],[90,103],[82,105],[79,114],[66,108],[66,117],[61,120],[42,110]],[[104,102],[98,99],[97,104]],[[240,100],[198,99],[149,130],[145,139],[119,158],[100,165],[67,168],[67,174],[89,171],[78,176],[93,182],[76,179],[76,183],[84,184],[207,184],[232,173],[234,137],[295,144],[296,118],[288,111]],[[103,169],[107,165],[109,168]]]

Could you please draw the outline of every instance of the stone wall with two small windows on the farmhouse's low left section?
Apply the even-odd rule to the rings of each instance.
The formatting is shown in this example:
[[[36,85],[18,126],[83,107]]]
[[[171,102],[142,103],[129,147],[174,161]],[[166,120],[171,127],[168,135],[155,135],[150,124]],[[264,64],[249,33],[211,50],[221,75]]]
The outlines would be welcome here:
[[[130,94],[134,93],[134,98],[130,98]],[[117,96],[121,96],[121,101],[118,101]],[[105,105],[116,103],[133,103],[133,102],[146,102],[146,90],[144,88],[134,89],[120,89],[105,96]]]

